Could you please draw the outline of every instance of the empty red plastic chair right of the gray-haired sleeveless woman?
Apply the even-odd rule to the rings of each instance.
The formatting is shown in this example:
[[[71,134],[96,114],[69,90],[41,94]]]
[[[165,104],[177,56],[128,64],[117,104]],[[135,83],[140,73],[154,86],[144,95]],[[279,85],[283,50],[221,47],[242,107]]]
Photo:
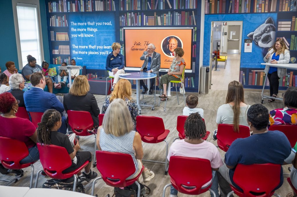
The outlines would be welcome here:
[[[140,134],[141,140],[146,143],[157,144],[159,142],[166,142],[166,156],[165,162],[153,161],[158,163],[165,163],[165,174],[168,173],[167,155],[168,155],[168,142],[165,140],[169,134],[169,130],[165,129],[162,118],[155,116],[137,116],[136,117],[136,130]],[[142,160],[151,161],[151,160]]]

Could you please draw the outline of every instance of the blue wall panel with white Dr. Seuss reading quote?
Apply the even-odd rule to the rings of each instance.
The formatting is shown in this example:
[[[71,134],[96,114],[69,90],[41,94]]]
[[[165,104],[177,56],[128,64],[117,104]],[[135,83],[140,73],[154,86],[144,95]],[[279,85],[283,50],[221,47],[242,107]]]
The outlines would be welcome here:
[[[113,12],[69,14],[70,57],[76,65],[104,69],[106,57],[116,41]]]

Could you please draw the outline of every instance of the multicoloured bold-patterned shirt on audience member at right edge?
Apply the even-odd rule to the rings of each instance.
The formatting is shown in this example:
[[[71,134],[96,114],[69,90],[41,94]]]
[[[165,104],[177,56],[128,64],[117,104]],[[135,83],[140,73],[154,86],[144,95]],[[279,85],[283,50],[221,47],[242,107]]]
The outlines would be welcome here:
[[[280,108],[270,111],[269,125],[297,124],[297,109]]]

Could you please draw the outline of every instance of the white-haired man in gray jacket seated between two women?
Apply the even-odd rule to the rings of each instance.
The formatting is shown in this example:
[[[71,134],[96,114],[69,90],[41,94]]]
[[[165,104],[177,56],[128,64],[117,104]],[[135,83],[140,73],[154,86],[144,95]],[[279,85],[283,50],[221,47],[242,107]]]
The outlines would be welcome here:
[[[159,53],[155,52],[155,45],[149,44],[147,51],[143,52],[140,60],[144,60],[141,70],[143,72],[155,73],[159,76],[159,69],[161,65],[161,56]],[[140,85],[143,87],[141,94],[145,94],[149,90],[149,94],[153,94],[153,87],[155,85],[155,78],[150,79],[150,89],[146,87],[143,80],[140,80]]]

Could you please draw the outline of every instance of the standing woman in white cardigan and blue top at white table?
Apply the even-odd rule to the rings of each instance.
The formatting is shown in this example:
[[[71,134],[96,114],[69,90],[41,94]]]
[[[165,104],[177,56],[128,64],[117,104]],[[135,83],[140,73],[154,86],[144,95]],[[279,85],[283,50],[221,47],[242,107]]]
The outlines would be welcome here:
[[[273,49],[273,50],[272,50]],[[283,39],[277,39],[273,47],[269,49],[266,56],[263,58],[264,62],[271,64],[287,64],[290,61],[290,51],[286,49]],[[269,70],[268,70],[269,68]],[[277,68],[266,65],[264,72],[267,74],[269,80],[270,96],[277,97],[279,88],[279,79],[286,76],[286,68]],[[273,102],[274,99],[269,99],[267,102]]]

